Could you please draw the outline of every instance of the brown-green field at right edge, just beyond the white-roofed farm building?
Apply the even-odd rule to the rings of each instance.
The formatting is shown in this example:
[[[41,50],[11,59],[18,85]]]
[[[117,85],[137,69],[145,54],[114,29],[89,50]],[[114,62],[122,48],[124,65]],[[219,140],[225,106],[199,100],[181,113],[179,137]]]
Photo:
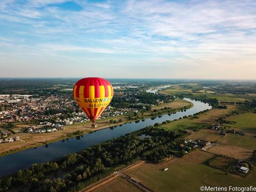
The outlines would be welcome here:
[[[211,152],[228,155],[237,159],[250,159],[256,149],[256,138],[228,134],[218,141]]]

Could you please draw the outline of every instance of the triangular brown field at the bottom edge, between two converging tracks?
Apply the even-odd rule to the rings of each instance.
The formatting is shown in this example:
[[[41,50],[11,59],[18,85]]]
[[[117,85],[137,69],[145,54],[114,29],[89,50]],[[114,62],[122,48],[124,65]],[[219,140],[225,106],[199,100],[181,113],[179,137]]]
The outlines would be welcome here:
[[[99,188],[93,190],[93,192],[124,192],[124,191],[141,192],[140,189],[136,188],[136,186],[132,185],[131,183],[129,183],[125,179],[122,179],[121,177],[116,178],[110,183],[102,185]]]

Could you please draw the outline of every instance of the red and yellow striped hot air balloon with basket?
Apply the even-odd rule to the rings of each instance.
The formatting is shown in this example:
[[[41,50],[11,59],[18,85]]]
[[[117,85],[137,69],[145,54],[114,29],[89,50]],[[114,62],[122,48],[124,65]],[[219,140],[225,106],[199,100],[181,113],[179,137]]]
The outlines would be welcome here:
[[[73,87],[73,98],[96,127],[99,118],[110,104],[114,91],[109,81],[99,77],[87,77],[77,81]]]

